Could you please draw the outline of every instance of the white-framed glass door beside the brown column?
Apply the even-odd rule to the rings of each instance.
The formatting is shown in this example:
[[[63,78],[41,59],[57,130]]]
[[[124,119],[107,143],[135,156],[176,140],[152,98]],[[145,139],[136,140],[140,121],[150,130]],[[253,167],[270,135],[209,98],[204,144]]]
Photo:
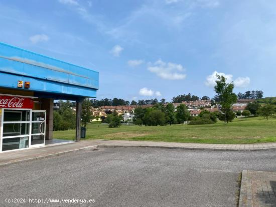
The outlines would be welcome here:
[[[31,147],[45,145],[46,111],[32,110]]]

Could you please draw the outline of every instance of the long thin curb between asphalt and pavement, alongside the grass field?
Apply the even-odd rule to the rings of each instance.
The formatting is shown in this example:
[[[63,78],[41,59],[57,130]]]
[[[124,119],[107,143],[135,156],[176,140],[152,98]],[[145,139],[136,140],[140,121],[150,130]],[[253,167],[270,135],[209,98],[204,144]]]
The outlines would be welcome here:
[[[243,149],[243,148],[200,148],[200,147],[172,147],[172,146],[154,146],[154,145],[101,145],[102,148],[116,148],[116,147],[141,147],[141,148],[161,148],[161,149],[183,149],[183,150],[202,150],[202,151],[262,151],[262,150],[276,150],[276,148],[261,148],[261,149]]]

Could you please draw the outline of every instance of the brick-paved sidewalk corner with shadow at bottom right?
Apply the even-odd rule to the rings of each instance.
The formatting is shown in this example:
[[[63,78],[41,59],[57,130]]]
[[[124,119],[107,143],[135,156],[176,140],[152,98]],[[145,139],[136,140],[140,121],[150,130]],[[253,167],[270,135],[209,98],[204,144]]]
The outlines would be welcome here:
[[[276,206],[276,172],[242,171],[239,207]]]

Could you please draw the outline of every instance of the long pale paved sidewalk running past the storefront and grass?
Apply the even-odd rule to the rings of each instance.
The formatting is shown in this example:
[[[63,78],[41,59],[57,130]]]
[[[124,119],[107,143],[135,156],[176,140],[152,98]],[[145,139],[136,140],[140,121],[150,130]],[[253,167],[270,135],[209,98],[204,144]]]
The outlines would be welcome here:
[[[82,140],[67,144],[39,147],[0,154],[0,166],[9,165],[57,156],[79,150],[93,150],[97,147],[152,147],[168,149],[189,149],[189,150],[274,150],[276,143],[263,144],[197,144],[197,143],[176,143],[176,142],[153,142],[153,141],[126,141],[126,140]]]

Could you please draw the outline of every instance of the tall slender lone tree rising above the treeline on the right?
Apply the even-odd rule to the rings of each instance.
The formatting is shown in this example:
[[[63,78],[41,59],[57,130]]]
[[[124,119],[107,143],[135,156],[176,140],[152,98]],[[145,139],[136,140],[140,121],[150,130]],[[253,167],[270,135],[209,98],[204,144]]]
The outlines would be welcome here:
[[[217,79],[214,91],[217,93],[219,104],[224,113],[224,124],[226,124],[226,112],[228,111],[230,115],[231,106],[237,101],[237,95],[233,93],[233,83],[226,83],[226,78],[224,76],[217,75]]]

